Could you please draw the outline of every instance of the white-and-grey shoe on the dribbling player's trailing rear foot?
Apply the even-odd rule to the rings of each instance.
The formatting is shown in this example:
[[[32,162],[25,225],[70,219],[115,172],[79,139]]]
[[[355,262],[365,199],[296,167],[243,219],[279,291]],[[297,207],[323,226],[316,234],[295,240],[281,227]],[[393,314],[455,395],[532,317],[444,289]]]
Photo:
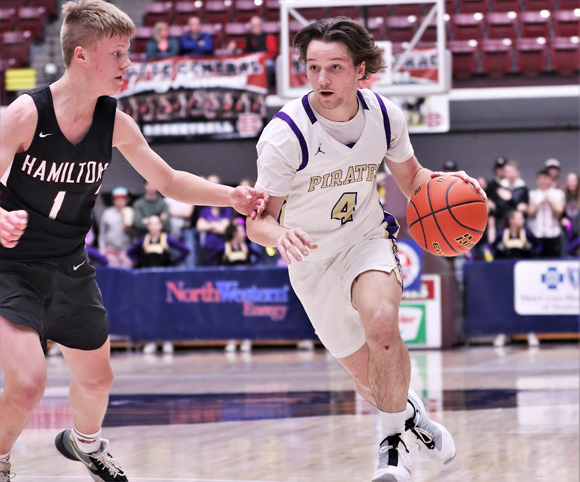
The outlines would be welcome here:
[[[427,417],[423,401],[411,389],[409,389],[407,401],[415,409],[415,415],[405,422],[405,430],[410,430],[411,439],[419,451],[438,462],[444,464],[451,462],[457,450],[449,431],[440,423]]]

